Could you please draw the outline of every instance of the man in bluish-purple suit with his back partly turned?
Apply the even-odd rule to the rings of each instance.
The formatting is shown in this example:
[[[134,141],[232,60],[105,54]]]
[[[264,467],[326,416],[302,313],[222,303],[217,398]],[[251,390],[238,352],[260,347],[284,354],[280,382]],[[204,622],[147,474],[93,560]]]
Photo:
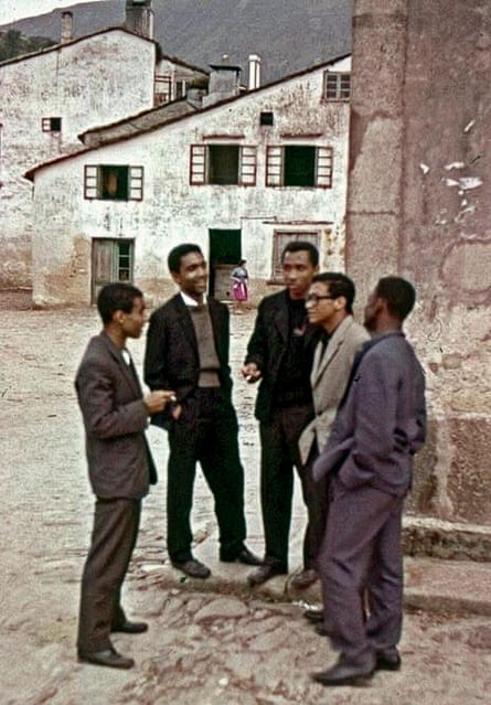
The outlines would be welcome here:
[[[325,632],[340,656],[312,675],[327,686],[401,667],[403,501],[426,434],[424,374],[402,330],[415,298],[405,279],[380,279],[365,307],[373,338],[313,466],[314,478],[330,474],[332,484],[319,565]]]

